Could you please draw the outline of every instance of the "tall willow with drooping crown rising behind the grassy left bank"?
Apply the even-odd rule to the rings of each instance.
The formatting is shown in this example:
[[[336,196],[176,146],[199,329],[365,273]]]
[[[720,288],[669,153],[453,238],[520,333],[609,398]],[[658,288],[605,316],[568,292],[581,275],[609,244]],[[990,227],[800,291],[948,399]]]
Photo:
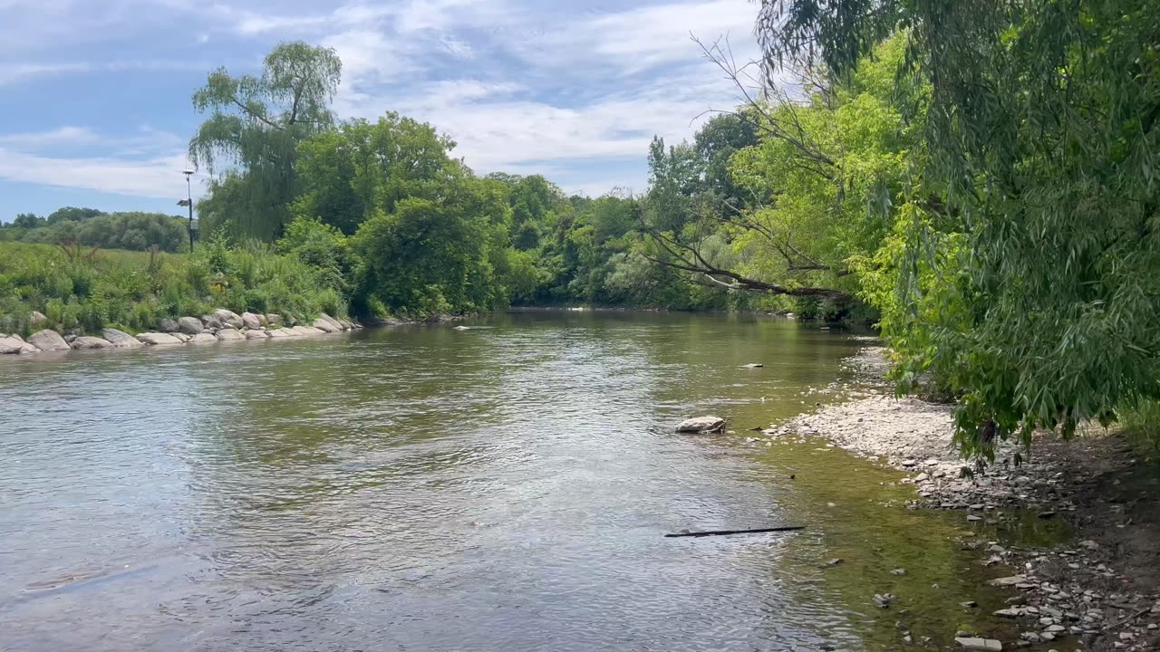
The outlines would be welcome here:
[[[273,240],[298,193],[298,144],[331,129],[331,101],[342,61],[334,50],[282,43],[266,56],[260,75],[209,74],[194,108],[209,114],[189,142],[189,157],[215,176],[201,202],[203,230]]]

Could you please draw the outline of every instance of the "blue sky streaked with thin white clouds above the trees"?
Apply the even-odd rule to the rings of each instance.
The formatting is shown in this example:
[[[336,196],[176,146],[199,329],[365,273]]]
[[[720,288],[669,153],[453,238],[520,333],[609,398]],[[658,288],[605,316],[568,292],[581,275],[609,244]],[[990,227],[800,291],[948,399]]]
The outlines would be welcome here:
[[[59,207],[181,212],[190,95],[283,41],[334,48],[340,117],[430,122],[478,174],[641,191],[653,135],[737,92],[691,41],[753,56],[747,0],[0,0],[0,220]],[[194,175],[202,193],[205,175]]]

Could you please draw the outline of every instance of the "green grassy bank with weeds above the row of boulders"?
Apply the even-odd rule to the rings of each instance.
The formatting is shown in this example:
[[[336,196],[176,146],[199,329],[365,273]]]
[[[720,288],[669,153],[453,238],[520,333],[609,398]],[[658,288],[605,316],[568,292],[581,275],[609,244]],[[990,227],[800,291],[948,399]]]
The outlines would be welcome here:
[[[295,254],[270,247],[198,245],[191,255],[0,242],[0,332],[50,327],[97,334],[103,327],[138,333],[165,317],[200,316],[215,307],[274,312],[289,320],[319,312],[346,316],[336,281]],[[35,326],[41,312],[48,324]]]

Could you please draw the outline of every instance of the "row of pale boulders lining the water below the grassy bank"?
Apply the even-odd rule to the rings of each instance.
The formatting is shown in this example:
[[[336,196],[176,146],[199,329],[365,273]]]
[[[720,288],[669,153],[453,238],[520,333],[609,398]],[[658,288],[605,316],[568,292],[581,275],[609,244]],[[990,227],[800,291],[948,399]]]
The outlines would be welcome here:
[[[44,323],[39,313],[29,316],[30,324]],[[19,333],[0,333],[0,354],[35,354],[72,349],[125,349],[144,346],[202,345],[219,341],[255,340],[267,338],[299,338],[325,335],[362,328],[357,323],[320,314],[309,325],[289,325],[278,314],[237,314],[218,309],[202,317],[162,319],[157,332],[131,335],[116,328],[104,328],[101,336],[61,334],[50,328],[37,331],[26,340]]]

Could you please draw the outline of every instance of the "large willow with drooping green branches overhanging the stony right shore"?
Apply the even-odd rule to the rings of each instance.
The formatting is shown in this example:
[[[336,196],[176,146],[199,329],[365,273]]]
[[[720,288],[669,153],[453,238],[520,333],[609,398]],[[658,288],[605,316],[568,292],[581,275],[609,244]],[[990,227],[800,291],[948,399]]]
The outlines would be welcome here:
[[[769,70],[840,79],[905,28],[930,89],[925,219],[884,324],[904,381],[962,393],[958,441],[1071,435],[1160,397],[1160,21],[1154,0],[763,0]],[[927,291],[919,291],[919,290]]]

